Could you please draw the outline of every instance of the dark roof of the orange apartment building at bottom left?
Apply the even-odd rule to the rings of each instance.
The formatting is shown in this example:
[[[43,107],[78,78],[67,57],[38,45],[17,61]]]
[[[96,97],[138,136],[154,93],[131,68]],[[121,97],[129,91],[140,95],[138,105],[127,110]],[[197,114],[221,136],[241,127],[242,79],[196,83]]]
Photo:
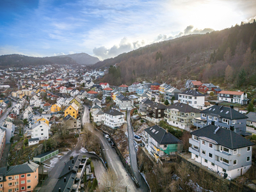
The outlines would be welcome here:
[[[0,168],[0,174],[4,176],[9,175],[19,175],[22,173],[33,173],[35,172],[36,168],[38,168],[38,164],[34,162],[26,162],[24,164],[18,164],[15,166],[10,166],[9,170],[6,167]]]

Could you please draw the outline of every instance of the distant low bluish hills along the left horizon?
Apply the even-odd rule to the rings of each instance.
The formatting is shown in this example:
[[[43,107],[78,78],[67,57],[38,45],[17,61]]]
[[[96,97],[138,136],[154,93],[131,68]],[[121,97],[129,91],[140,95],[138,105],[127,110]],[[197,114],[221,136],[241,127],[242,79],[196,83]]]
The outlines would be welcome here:
[[[45,58],[35,58],[20,54],[8,54],[0,56],[0,68],[24,67],[28,65],[47,65],[54,63],[60,65],[92,65],[97,61],[99,61],[98,58],[90,56],[86,53],[68,54],[63,56],[52,56]]]

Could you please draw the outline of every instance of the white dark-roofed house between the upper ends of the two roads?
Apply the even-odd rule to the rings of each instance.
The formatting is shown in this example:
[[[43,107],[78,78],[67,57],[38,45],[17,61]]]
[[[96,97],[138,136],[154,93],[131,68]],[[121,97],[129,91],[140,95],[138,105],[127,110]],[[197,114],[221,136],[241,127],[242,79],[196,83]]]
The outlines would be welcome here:
[[[125,122],[124,113],[121,113],[120,111],[117,111],[115,109],[110,109],[104,112],[102,120],[104,125],[112,129],[117,129]]]

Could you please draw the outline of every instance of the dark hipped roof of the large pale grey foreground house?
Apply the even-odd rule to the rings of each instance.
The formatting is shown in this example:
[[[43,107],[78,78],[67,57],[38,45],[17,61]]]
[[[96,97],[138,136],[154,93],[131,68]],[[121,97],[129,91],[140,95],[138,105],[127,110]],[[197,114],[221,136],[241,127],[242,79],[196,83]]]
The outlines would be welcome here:
[[[231,131],[230,129],[224,129],[220,127],[216,134],[214,134],[214,131],[216,131],[217,128],[218,127],[216,127],[215,125],[207,125],[206,127],[191,132],[191,134],[194,134],[198,137],[209,138],[216,141],[218,145],[222,145],[230,149],[255,145],[251,141],[246,140],[245,138],[243,138],[243,136],[240,136],[239,134]],[[204,140],[204,138],[202,138],[202,140]]]

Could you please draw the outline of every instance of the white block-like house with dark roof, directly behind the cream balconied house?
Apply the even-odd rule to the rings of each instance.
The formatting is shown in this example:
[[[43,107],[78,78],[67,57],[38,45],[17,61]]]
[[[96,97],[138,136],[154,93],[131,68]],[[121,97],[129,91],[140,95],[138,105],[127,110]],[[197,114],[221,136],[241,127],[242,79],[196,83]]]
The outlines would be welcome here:
[[[182,103],[189,104],[193,108],[202,109],[204,107],[205,95],[197,90],[186,90],[185,92],[179,93],[179,100]]]

